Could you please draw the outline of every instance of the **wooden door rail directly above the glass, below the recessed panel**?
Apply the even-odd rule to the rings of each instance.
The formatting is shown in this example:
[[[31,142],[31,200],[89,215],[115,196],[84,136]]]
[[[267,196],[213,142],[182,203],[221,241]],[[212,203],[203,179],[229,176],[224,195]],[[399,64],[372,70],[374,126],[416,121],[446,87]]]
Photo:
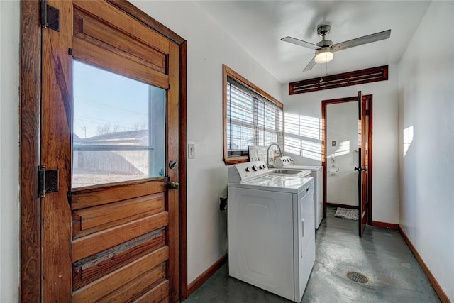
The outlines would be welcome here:
[[[169,87],[169,77],[164,73],[150,69],[148,66],[118,55],[110,50],[100,48],[77,37],[72,37],[72,56],[90,65],[131,77],[140,82],[145,82],[163,89]]]

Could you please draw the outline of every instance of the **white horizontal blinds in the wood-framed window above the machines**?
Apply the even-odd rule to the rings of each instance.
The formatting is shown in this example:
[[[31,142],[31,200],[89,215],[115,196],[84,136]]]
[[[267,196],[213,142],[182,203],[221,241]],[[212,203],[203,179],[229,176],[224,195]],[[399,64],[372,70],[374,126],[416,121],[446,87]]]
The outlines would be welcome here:
[[[282,109],[248,87],[227,79],[227,153],[248,155],[248,146],[282,144]]]

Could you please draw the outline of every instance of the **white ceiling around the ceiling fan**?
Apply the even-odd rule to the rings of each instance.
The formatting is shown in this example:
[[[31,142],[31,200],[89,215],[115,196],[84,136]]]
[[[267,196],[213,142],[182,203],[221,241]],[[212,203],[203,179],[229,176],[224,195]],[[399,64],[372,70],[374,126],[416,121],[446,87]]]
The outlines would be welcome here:
[[[431,1],[197,1],[229,35],[282,84],[399,61]],[[328,64],[303,72],[314,50],[316,28],[331,25],[333,44],[391,29],[391,37],[334,53]],[[430,43],[430,41],[428,41]]]

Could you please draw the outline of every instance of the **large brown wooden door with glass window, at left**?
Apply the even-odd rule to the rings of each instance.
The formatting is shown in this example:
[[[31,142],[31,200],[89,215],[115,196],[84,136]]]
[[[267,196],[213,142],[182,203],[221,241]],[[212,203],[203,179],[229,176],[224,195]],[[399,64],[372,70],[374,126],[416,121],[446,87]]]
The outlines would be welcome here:
[[[60,11],[60,28],[42,33],[41,165],[58,170],[60,188],[40,200],[42,302],[177,302],[178,45],[108,1],[48,4]],[[79,66],[100,74],[75,74]],[[143,129],[100,127],[90,135],[75,119],[80,100],[92,122],[110,121],[102,117],[113,107],[122,111],[120,123],[130,112],[147,114],[135,99],[119,106],[116,99],[129,93],[112,94],[116,82],[99,84],[109,77],[148,89]],[[81,88],[79,79],[88,78]],[[163,97],[162,114],[155,114],[154,92]],[[96,109],[99,99],[104,107]]]

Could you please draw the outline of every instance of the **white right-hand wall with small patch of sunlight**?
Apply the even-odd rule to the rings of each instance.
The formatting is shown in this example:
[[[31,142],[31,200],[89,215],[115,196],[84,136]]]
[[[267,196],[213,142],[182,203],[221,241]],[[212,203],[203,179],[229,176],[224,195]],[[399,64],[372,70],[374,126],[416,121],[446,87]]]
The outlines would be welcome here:
[[[452,302],[453,16],[454,2],[433,1],[399,62],[399,221]],[[433,45],[440,45],[440,48],[435,49]],[[411,126],[413,136],[404,136],[404,130],[411,129]],[[409,144],[408,149],[407,146],[404,149],[404,143]]]

